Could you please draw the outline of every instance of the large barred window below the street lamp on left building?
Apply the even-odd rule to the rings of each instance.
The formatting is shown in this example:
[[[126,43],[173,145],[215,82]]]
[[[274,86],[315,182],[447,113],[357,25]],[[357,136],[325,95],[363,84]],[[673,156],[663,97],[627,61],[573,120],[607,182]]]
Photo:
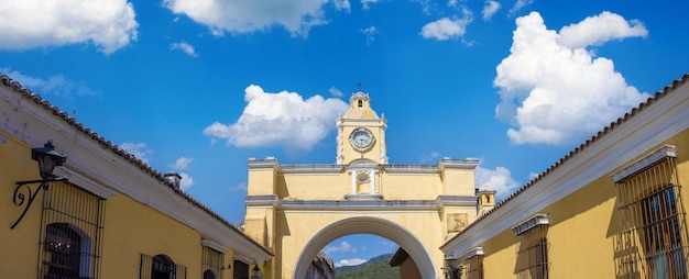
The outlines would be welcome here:
[[[40,277],[99,278],[106,201],[66,181],[51,182],[41,216]]]

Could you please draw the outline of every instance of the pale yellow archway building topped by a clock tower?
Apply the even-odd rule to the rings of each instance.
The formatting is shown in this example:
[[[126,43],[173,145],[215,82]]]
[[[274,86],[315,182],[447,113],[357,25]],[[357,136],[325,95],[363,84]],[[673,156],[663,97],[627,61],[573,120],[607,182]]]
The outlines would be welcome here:
[[[374,234],[414,259],[420,278],[438,278],[437,249],[477,216],[475,159],[394,165],[386,154],[387,120],[357,92],[336,121],[336,164],[282,165],[249,159],[245,232],[275,257],[266,276],[305,278],[330,242]]]

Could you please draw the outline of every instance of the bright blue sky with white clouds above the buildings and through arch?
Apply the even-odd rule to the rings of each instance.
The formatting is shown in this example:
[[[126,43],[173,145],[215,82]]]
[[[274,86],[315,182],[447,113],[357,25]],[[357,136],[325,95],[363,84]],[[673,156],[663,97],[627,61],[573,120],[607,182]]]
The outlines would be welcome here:
[[[687,10],[680,0],[0,0],[0,72],[181,172],[185,191],[240,223],[247,159],[335,163],[335,118],[358,83],[389,119],[392,164],[479,158],[478,186],[504,198],[689,72]],[[324,250],[346,263],[390,253],[382,241],[356,235]]]

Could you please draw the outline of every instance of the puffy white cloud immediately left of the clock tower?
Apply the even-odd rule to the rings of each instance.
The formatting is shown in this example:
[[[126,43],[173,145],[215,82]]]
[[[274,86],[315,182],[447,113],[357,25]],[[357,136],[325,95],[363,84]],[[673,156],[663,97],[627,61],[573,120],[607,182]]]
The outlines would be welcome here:
[[[264,92],[259,86],[244,90],[248,102],[232,124],[212,123],[204,134],[227,140],[238,147],[283,146],[310,149],[333,127],[349,105],[339,99],[314,96],[304,100],[296,92]]]

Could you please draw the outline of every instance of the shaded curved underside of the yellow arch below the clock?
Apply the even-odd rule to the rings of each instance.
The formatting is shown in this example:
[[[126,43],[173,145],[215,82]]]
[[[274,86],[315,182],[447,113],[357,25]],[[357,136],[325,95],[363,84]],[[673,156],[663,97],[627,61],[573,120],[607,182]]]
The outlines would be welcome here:
[[[311,259],[320,249],[332,241],[351,234],[373,234],[396,243],[414,259],[423,279],[438,278],[430,254],[414,234],[394,222],[370,216],[340,220],[316,233],[299,254],[293,278],[305,278]]]

